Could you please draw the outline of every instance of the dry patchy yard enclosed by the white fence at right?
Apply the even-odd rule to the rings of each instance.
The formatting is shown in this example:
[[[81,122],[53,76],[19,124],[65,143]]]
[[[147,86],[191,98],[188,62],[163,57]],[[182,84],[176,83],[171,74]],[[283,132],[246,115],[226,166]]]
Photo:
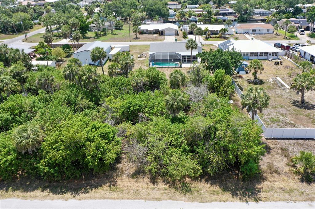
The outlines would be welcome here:
[[[250,61],[248,61],[250,62]],[[258,78],[263,81],[263,84],[259,85],[263,87],[270,95],[270,105],[258,115],[264,122],[266,127],[275,128],[314,128],[315,127],[315,96],[314,91],[308,91],[305,93],[306,105],[301,106],[299,104],[301,95],[296,94],[294,90],[289,88],[282,89],[273,81],[268,81],[271,78],[279,77],[288,86],[292,83],[293,78],[300,72],[296,66],[283,58],[283,65],[275,66],[270,61],[262,61],[264,64],[264,71],[258,74]],[[289,77],[291,74],[291,77]],[[249,81],[253,79],[251,73],[239,76],[235,76],[234,80],[238,84],[239,88],[246,92],[249,86],[253,84]]]

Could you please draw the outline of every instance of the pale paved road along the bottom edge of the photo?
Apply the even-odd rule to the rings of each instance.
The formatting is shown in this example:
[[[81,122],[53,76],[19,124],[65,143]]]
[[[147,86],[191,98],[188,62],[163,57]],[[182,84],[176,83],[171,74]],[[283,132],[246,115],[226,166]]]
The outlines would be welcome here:
[[[111,208],[111,209],[145,209],[145,208],[277,208],[277,209],[314,209],[315,202],[183,202],[183,201],[144,201],[144,200],[19,200],[0,201],[2,209],[37,209],[37,208]]]

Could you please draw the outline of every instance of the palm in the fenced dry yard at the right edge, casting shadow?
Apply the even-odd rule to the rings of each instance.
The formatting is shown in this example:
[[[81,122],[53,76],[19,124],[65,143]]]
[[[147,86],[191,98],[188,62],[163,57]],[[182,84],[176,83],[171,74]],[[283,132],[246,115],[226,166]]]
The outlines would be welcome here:
[[[291,89],[296,91],[296,94],[301,93],[301,104],[305,104],[304,93],[305,91],[314,90],[315,88],[315,77],[311,75],[309,72],[302,72],[301,74],[297,74],[295,78],[293,78],[293,83],[290,86]]]

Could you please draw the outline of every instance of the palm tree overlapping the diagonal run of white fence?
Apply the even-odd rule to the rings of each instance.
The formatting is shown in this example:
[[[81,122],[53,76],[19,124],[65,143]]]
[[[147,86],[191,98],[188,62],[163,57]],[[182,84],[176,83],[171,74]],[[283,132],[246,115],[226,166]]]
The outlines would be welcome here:
[[[252,120],[257,115],[257,110],[262,113],[269,105],[270,96],[261,87],[249,87],[245,94],[241,95],[242,110],[246,108],[248,112],[252,113]]]

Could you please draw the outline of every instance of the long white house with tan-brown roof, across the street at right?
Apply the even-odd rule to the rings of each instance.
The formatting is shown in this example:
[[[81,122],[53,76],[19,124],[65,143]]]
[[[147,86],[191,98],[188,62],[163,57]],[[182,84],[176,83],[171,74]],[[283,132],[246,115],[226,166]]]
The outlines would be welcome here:
[[[235,24],[235,33],[244,34],[271,34],[273,32],[272,24],[265,23],[243,23]]]

